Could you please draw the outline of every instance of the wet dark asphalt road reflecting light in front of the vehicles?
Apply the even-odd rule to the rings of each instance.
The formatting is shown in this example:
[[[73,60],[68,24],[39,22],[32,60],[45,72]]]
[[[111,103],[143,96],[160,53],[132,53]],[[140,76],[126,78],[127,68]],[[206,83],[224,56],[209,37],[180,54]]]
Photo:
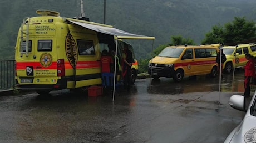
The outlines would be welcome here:
[[[228,105],[243,94],[243,71],[181,83],[136,80],[130,92],[88,97],[68,90],[0,97],[1,143],[223,143],[242,121]],[[255,91],[252,88],[251,95]],[[247,99],[249,101],[249,99]]]

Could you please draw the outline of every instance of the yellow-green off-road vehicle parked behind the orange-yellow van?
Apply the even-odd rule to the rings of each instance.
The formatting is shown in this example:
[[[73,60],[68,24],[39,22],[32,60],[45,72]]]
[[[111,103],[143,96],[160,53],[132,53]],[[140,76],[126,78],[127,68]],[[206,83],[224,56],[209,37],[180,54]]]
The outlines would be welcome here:
[[[223,63],[223,69],[227,73],[231,73],[233,68],[241,68],[247,63],[245,54],[249,53],[256,56],[256,44],[238,44],[236,46],[223,46],[223,53],[226,55],[227,60]],[[237,49],[237,52],[235,52]]]

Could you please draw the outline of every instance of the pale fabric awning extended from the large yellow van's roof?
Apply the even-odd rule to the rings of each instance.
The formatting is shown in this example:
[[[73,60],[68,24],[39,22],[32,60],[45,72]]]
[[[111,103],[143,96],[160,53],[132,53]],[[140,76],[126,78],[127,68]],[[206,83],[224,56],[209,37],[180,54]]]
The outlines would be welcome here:
[[[117,39],[155,39],[155,37],[147,37],[145,35],[137,35],[132,34],[129,32],[125,32],[124,30],[116,29],[112,26],[105,26],[105,25],[97,25],[97,24],[90,24],[90,23],[82,23],[76,22],[74,20],[68,20],[69,22],[75,23],[82,27],[94,30],[96,32],[105,33],[109,35],[115,36]]]

